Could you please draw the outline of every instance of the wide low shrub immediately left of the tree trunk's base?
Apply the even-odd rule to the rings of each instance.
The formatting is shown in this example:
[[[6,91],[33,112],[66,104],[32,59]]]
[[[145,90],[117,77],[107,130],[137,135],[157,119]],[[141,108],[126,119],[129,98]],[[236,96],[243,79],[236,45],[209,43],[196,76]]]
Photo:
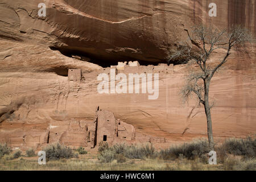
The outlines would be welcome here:
[[[182,154],[184,158],[205,160],[205,155],[209,152],[209,144],[207,141],[199,140],[189,143],[184,143],[179,146],[171,146],[166,150],[159,152],[159,158],[164,160],[177,159]]]

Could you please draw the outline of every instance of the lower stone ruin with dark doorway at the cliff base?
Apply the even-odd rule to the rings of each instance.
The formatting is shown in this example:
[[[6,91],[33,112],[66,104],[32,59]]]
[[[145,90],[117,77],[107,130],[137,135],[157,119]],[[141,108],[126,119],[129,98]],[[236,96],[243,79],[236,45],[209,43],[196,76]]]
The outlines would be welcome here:
[[[61,142],[69,146],[94,148],[101,141],[113,144],[115,142],[132,142],[135,139],[135,129],[132,125],[116,119],[110,111],[96,109],[93,121],[58,122],[47,129],[44,143]]]

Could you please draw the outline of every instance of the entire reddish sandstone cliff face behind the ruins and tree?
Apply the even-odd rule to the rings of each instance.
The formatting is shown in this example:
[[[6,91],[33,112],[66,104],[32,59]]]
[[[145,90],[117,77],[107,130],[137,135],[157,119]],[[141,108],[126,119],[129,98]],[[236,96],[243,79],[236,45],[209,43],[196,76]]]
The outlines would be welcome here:
[[[97,75],[110,68],[93,63],[164,63],[195,23],[219,28],[240,23],[256,35],[256,5],[249,0],[56,0],[45,2],[45,18],[37,15],[40,2],[0,2],[0,140],[9,138],[14,146],[42,144],[53,123],[93,119],[97,105],[144,134],[172,141],[205,136],[203,108],[196,102],[181,104],[184,65],[161,74],[159,98],[148,100],[143,94],[99,94]],[[217,17],[208,16],[210,2],[217,5]],[[56,49],[89,57],[93,63]],[[254,44],[249,53],[234,52],[229,63],[214,76],[210,88],[215,100],[213,133],[253,135]],[[69,68],[81,69],[81,82],[68,81]]]

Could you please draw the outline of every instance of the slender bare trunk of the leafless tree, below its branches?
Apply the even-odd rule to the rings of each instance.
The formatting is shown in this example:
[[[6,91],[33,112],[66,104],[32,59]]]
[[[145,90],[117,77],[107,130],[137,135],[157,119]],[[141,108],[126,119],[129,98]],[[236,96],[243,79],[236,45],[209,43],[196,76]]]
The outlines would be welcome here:
[[[205,81],[204,110],[205,110],[205,115],[207,117],[207,134],[208,134],[210,150],[214,150],[214,140],[212,135],[212,117],[210,115],[210,106],[209,106],[209,87],[210,87],[210,81]]]

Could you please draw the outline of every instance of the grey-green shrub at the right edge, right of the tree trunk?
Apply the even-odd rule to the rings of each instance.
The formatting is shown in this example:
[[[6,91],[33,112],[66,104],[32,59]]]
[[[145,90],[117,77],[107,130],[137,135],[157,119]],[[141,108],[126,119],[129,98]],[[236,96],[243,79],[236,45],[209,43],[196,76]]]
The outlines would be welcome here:
[[[246,158],[255,158],[256,139],[250,137],[246,139],[228,139],[224,142],[226,152],[233,155],[243,155]]]

